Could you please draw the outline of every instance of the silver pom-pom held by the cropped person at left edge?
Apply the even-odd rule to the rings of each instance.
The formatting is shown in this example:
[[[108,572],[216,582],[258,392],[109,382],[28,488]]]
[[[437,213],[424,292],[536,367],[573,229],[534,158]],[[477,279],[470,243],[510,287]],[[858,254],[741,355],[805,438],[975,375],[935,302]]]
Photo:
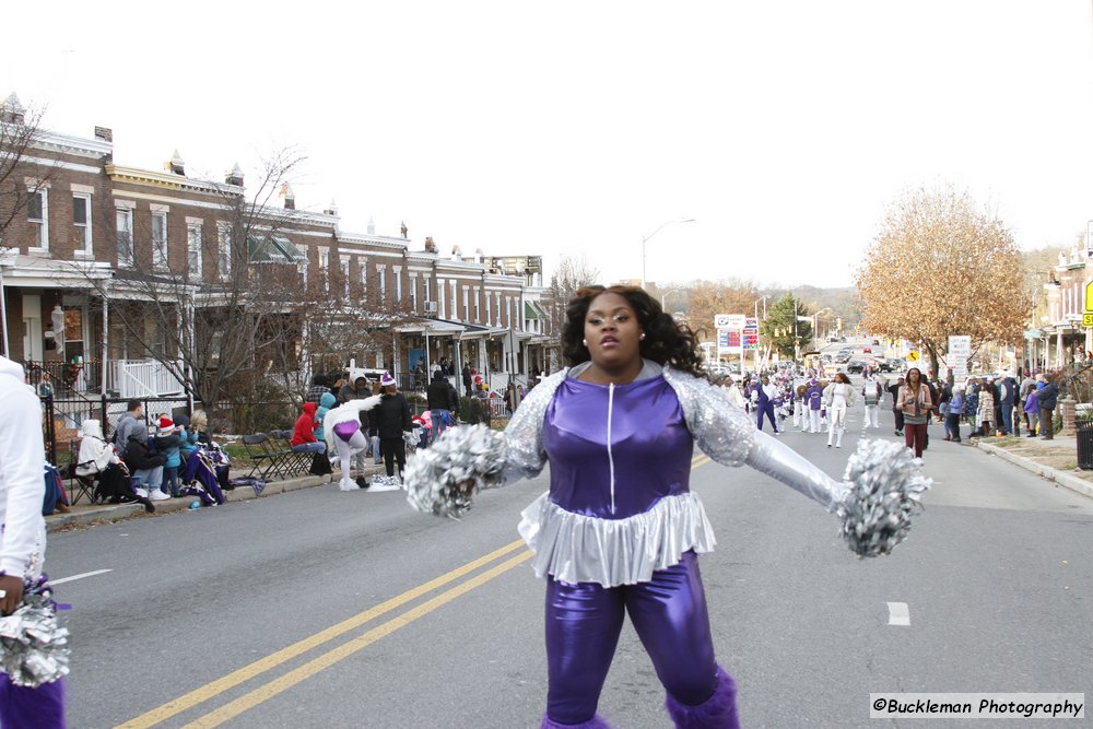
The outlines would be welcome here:
[[[69,672],[68,634],[45,580],[27,583],[15,612],[0,618],[0,671],[17,686],[60,679]]]

